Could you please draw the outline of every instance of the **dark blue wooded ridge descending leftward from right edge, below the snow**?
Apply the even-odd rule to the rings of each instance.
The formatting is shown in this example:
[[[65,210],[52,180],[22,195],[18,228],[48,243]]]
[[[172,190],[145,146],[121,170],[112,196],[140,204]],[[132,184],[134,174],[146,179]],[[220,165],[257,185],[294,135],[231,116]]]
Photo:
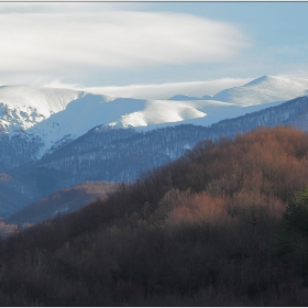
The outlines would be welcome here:
[[[76,141],[79,148],[70,151],[70,144],[47,155],[37,166],[68,172],[72,177],[86,179],[94,176],[106,180],[134,180],[140,172],[165,164],[183,155],[187,148],[202,139],[216,140],[220,136],[233,138],[258,127],[294,125],[308,129],[308,98],[301,97],[277,107],[266,108],[234,119],[223,120],[209,128],[178,125],[145,133],[136,133],[127,139],[118,139],[105,146],[86,150],[82,145],[95,131]],[[76,146],[75,144],[75,146]],[[74,176],[73,176],[74,174]],[[78,175],[78,176],[77,176]]]

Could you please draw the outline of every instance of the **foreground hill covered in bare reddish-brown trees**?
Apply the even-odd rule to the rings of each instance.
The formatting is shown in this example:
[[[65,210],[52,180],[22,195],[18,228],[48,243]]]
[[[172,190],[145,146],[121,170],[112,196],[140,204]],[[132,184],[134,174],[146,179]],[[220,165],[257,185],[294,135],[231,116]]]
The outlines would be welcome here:
[[[205,140],[3,238],[2,306],[308,306],[308,134]]]

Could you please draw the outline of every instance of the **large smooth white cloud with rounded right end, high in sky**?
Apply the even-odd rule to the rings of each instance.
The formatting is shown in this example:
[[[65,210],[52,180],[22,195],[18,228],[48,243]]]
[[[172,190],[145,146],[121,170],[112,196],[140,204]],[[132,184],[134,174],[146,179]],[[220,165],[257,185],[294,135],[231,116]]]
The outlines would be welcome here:
[[[45,76],[228,62],[249,46],[232,24],[183,13],[8,13],[0,72]]]

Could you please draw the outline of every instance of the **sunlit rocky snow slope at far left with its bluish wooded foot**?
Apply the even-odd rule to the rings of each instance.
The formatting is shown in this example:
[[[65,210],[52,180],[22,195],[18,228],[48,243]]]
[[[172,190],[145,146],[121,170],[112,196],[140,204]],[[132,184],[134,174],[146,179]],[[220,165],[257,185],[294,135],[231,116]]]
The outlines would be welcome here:
[[[0,172],[36,160],[45,141],[26,131],[85,95],[34,86],[0,87]]]

